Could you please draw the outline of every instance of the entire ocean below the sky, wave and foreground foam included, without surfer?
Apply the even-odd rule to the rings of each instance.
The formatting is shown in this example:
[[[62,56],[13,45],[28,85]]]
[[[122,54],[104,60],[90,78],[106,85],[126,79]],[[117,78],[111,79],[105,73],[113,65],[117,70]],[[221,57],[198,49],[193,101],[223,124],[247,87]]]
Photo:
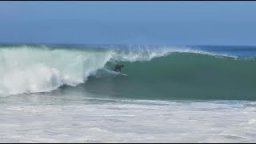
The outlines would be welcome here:
[[[256,46],[0,45],[0,142],[255,142],[255,100]]]

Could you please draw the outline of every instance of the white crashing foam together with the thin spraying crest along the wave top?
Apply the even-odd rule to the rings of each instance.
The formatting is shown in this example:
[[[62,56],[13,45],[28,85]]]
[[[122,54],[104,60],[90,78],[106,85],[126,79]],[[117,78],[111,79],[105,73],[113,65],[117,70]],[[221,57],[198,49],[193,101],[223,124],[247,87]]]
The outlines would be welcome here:
[[[144,62],[172,53],[231,57],[188,47],[62,48],[48,46],[0,47],[0,95],[49,92],[62,85],[75,87],[95,76],[108,63]],[[99,74],[98,74],[99,75]]]

